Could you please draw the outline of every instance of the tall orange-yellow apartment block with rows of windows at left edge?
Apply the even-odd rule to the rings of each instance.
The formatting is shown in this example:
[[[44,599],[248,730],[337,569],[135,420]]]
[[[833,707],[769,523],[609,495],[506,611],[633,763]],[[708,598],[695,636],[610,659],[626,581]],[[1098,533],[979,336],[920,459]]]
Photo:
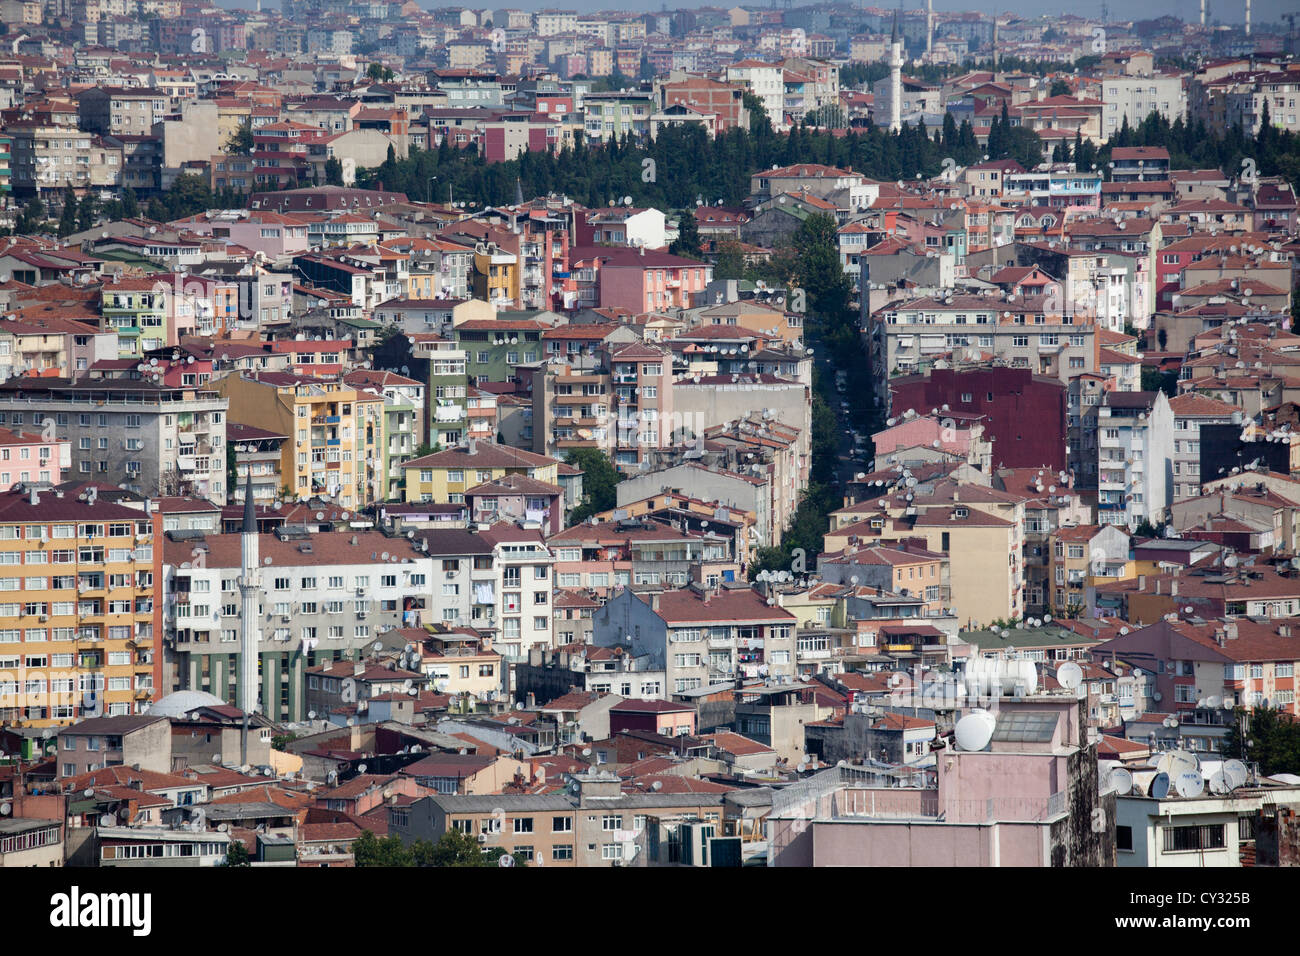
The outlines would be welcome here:
[[[135,509],[0,496],[0,724],[140,713],[153,695],[153,546]]]

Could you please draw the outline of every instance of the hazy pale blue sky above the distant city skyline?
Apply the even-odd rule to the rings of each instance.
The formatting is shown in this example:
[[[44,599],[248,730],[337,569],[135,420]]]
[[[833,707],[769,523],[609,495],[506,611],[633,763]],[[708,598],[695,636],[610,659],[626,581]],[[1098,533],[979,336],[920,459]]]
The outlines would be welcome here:
[[[419,0],[421,7],[428,9],[436,9],[438,7],[450,7],[452,4],[436,4],[429,0]],[[894,0],[897,3],[897,0]],[[878,0],[874,7],[892,8],[894,3],[889,0]],[[1210,21],[1218,20],[1223,23],[1240,23],[1245,18],[1245,0],[1208,0],[1209,3],[1209,17]],[[217,4],[226,8],[242,8],[251,9],[252,3],[250,0],[217,0]],[[992,12],[998,10],[1000,13],[1019,13],[1027,17],[1039,16],[1053,16],[1061,13],[1075,13],[1083,17],[1100,17],[1101,16],[1101,0],[988,0],[988,3],[971,3],[971,0],[933,0],[935,10],[984,10]],[[263,5],[268,9],[278,7],[278,0],[263,0]],[[456,4],[462,7],[468,7],[471,9],[500,9],[504,7],[521,9],[521,10],[537,10],[542,8],[547,9],[567,9],[567,10],[659,10],[659,9],[692,9],[696,7],[731,7],[732,3],[728,0],[712,0],[712,3],[692,3],[690,0],[677,0],[676,3],[664,4],[662,0],[620,0],[618,4],[611,4],[610,0],[572,0],[572,3],[564,3],[563,0],[515,0],[504,3],[498,0],[497,3],[488,3],[486,0],[467,0],[464,4]],[[770,5],[770,4],[762,4]],[[794,4],[796,7],[802,7],[805,4]],[[924,0],[905,0],[904,9],[920,9],[924,5]],[[1143,0],[1140,4],[1126,3],[1126,0],[1109,0],[1110,17],[1119,18],[1122,16],[1138,14],[1143,18],[1156,18],[1164,17],[1166,14],[1179,16],[1183,20],[1196,20],[1200,16],[1199,0]],[[1251,18],[1256,25],[1261,25],[1269,21],[1279,22],[1283,13],[1297,13],[1300,12],[1300,5],[1296,0],[1253,0],[1251,7]]]

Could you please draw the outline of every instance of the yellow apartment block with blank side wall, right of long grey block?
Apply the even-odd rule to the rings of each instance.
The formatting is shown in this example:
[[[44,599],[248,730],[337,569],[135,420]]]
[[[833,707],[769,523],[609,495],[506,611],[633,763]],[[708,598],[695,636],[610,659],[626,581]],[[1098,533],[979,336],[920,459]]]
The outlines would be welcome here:
[[[280,458],[290,498],[330,494],[342,507],[384,498],[384,395],[290,372],[231,373],[216,388],[231,421],[290,436]]]

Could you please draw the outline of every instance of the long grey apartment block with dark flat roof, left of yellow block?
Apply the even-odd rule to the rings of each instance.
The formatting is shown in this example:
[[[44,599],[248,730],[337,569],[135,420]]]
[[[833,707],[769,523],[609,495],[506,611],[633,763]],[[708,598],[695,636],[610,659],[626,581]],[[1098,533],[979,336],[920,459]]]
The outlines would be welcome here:
[[[225,503],[228,402],[208,386],[143,378],[10,378],[0,425],[55,425],[70,475],[138,494],[194,494]],[[32,479],[36,480],[36,479]]]

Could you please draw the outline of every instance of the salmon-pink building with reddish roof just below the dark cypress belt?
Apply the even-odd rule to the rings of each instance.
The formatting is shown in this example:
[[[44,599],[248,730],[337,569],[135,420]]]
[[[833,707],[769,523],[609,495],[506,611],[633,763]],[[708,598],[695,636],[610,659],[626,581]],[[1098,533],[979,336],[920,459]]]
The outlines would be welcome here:
[[[632,315],[690,308],[712,281],[714,267],[645,248],[589,246],[569,252],[578,307],[624,308]]]

